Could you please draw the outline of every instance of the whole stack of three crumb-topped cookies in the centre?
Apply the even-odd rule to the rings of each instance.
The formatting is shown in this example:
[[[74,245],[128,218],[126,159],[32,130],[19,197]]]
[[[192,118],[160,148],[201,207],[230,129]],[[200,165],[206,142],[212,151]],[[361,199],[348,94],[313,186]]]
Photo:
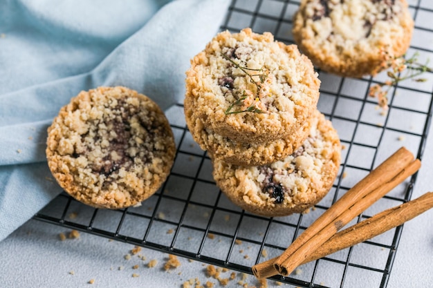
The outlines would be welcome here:
[[[185,118],[225,195],[260,215],[317,203],[340,164],[340,142],[317,111],[320,81],[297,46],[221,32],[191,61]]]

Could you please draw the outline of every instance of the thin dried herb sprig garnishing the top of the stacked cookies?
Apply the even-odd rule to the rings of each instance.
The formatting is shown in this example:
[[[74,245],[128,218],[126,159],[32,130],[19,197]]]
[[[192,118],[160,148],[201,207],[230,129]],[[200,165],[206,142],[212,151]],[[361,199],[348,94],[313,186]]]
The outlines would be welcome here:
[[[227,59],[228,61],[230,61],[234,66],[236,66],[237,68],[239,68],[243,73],[245,73],[246,75],[248,75],[248,77],[250,77],[250,82],[252,84],[254,84],[257,88],[257,95],[259,95],[259,92],[262,88],[261,84],[264,84],[264,82],[266,81],[266,77],[268,77],[268,75],[264,72],[263,68],[260,69],[252,69],[252,68],[248,68],[248,67],[243,67],[239,64],[237,64],[235,61],[233,61],[232,59],[230,59],[230,57],[228,57],[227,55],[225,55],[224,53],[221,53],[221,55]],[[259,71],[259,74],[253,74],[251,75],[250,73],[248,73],[248,70],[251,71]],[[259,77],[259,82],[255,81],[255,79],[253,77]],[[232,105],[230,105],[227,110],[225,110],[225,115],[228,114],[237,114],[237,113],[244,113],[244,112],[252,112],[252,113],[264,113],[263,110],[261,110],[260,108],[257,108],[257,102],[260,101],[260,98],[257,96],[255,97],[255,101],[252,102],[252,104],[250,106],[248,106],[245,110],[241,110],[241,111],[232,111],[232,109],[234,107],[241,107],[243,106],[245,103],[245,100],[248,98],[248,95],[246,94],[246,91],[243,90],[241,97],[239,97],[239,99],[237,99],[235,102],[233,102]]]

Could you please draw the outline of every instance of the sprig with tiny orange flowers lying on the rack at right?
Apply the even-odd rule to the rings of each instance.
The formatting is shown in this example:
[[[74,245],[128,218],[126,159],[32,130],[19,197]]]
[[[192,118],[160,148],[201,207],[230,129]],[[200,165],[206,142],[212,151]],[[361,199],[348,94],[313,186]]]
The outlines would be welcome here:
[[[385,50],[383,50],[382,53],[384,57],[383,68],[391,68],[391,70],[387,72],[389,79],[384,83],[371,86],[369,89],[369,95],[371,97],[377,97],[379,106],[386,110],[388,108],[387,95],[393,86],[396,86],[396,84],[407,79],[412,79],[417,82],[425,82],[427,79],[418,76],[425,72],[433,72],[433,69],[427,66],[429,64],[429,59],[425,61],[425,64],[418,63],[418,52],[415,52],[409,59],[405,59],[405,55],[392,57]],[[404,75],[401,75],[403,72],[405,72]]]

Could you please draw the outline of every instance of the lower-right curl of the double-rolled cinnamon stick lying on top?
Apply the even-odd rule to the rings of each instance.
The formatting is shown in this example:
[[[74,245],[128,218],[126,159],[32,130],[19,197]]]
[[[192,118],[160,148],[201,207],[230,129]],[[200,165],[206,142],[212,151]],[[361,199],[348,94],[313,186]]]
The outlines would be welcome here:
[[[363,198],[358,200],[358,202],[349,207],[349,209],[341,213],[337,218],[332,220],[322,230],[316,233],[315,236],[302,244],[302,246],[296,251],[289,255],[284,252],[283,255],[280,256],[275,262],[274,267],[283,276],[288,276],[293,270],[295,270],[297,266],[304,262],[311,251],[315,251],[318,247],[320,247],[320,245],[326,242],[326,240],[331,238],[335,233],[342,229],[344,225],[362,213],[362,211],[365,211],[365,209],[370,207],[371,204],[380,198],[383,198],[383,196],[398,186],[398,184],[403,182],[403,180],[418,171],[420,167],[421,162],[419,160],[415,160],[414,162],[407,165],[403,171],[398,173],[391,180],[385,182],[385,184],[379,186],[377,189],[374,189],[374,191],[371,191],[371,193],[365,195]]]

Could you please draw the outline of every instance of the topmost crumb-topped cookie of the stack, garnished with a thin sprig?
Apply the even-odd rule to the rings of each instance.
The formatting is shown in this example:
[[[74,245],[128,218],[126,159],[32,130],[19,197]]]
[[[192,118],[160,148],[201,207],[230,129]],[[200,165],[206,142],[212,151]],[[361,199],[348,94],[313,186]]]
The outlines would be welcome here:
[[[186,75],[185,109],[237,142],[264,143],[295,133],[319,97],[317,73],[297,46],[250,28],[216,35]]]

